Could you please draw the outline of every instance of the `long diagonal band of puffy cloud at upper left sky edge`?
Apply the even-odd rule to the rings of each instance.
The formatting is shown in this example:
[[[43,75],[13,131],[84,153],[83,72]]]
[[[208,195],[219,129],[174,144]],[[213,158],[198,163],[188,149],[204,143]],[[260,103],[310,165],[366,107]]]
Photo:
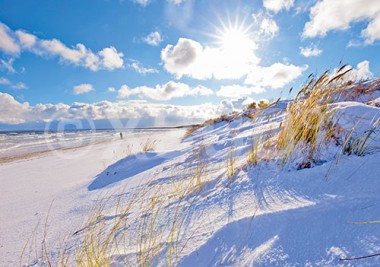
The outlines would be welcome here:
[[[62,62],[82,66],[92,71],[124,67],[124,55],[115,47],[106,47],[94,53],[81,43],[68,47],[57,39],[39,39],[22,30],[13,32],[2,23],[0,23],[0,49],[10,54],[28,50],[39,56],[57,56]],[[5,65],[4,63],[6,62],[2,62],[2,65]]]

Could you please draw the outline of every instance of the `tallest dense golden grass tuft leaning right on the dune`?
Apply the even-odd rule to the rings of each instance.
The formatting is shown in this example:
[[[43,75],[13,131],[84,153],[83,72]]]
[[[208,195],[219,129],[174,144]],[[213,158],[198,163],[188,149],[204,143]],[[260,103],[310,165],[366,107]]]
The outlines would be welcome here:
[[[348,86],[344,77],[349,71],[351,69],[346,70],[342,66],[333,75],[326,71],[318,79],[311,76],[289,104],[278,135],[279,152],[284,163],[291,159],[296,149],[307,155],[307,161],[314,160],[319,145],[318,133],[327,129],[334,117],[329,104],[338,100]]]

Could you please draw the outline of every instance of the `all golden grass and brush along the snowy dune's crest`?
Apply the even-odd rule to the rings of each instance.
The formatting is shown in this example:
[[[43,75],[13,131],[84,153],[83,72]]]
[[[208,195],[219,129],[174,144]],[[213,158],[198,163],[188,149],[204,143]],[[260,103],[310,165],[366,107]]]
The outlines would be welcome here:
[[[372,123],[363,136],[352,136],[353,132],[347,134],[336,124],[338,118],[335,116],[333,104],[340,100],[360,101],[364,95],[378,90],[380,80],[374,80],[369,85],[353,82],[347,78],[350,71],[351,69],[347,69],[346,65],[343,65],[333,73],[326,71],[319,77],[311,74],[306,85],[287,105],[285,118],[280,122],[277,134],[270,138],[260,138],[259,136],[255,140],[252,139],[248,152],[248,165],[258,164],[260,151],[261,155],[266,155],[266,159],[277,159],[282,164],[291,162],[297,152],[306,155],[304,161],[298,163],[298,167],[308,168],[315,161],[316,153],[319,153],[326,144],[331,142],[342,145],[344,154],[363,155],[368,141],[377,133],[379,123]],[[258,103],[252,102],[241,113],[222,115],[194,126],[185,137],[204,126],[222,121],[230,123],[241,117],[247,117],[253,121],[266,117],[269,122],[271,115],[266,114],[266,110],[275,107],[279,102],[280,99],[272,103],[264,100]],[[269,154],[272,156],[268,157]],[[227,176],[230,177],[231,160],[227,163]]]

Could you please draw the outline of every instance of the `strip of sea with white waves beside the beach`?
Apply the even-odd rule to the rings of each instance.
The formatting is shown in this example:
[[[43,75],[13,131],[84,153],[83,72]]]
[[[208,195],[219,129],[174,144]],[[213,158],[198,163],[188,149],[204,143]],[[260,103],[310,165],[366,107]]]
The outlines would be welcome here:
[[[151,131],[123,130],[130,134]],[[55,149],[67,149],[120,138],[117,130],[6,131],[0,132],[0,159]]]

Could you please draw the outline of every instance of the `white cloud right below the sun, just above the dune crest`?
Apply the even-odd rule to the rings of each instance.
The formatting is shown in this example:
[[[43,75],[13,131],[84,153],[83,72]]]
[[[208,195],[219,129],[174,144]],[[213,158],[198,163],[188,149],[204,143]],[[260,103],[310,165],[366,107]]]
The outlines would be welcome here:
[[[301,76],[307,68],[307,65],[283,63],[274,63],[269,67],[256,66],[247,75],[245,83],[258,87],[282,88]]]

